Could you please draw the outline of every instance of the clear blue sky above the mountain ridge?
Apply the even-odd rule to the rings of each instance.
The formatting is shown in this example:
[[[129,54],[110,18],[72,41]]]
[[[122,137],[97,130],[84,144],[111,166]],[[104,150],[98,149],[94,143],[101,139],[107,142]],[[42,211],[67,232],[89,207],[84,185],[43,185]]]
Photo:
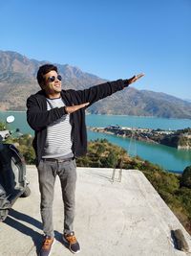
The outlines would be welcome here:
[[[6,0],[0,50],[191,99],[191,0]]]

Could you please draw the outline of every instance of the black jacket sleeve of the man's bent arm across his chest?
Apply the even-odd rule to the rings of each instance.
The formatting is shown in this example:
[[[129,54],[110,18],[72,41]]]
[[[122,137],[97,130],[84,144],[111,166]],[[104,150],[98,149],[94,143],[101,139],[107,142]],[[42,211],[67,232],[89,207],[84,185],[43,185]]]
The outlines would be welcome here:
[[[34,95],[27,100],[27,121],[35,131],[46,128],[65,114],[65,106],[42,110],[42,106]]]

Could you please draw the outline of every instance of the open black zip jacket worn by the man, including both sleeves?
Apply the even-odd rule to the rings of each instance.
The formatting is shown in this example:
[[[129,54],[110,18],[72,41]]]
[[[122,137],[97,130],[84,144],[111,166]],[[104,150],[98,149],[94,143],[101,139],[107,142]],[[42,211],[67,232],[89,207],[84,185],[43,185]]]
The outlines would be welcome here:
[[[128,80],[108,81],[95,85],[85,90],[62,90],[61,97],[66,106],[90,103],[93,105],[124,87],[128,86]],[[90,106],[88,105],[88,106]],[[33,148],[36,153],[36,165],[42,157],[46,142],[47,126],[66,114],[65,106],[47,110],[46,96],[43,90],[30,96],[27,100],[27,121],[35,131]],[[85,125],[85,108],[81,108],[70,115],[72,125],[72,151],[74,157],[81,156],[87,151],[87,131]],[[64,143],[64,142],[63,142]]]

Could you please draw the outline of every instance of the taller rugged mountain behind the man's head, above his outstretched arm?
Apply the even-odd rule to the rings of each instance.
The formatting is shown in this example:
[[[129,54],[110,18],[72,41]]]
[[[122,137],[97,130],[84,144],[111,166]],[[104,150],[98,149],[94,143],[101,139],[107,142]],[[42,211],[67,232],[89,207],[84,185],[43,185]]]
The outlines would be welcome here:
[[[27,97],[40,89],[36,81],[38,67],[49,62],[29,59],[15,52],[0,51],[0,109],[25,110]],[[83,89],[103,82],[77,67],[56,65],[64,78],[65,88]]]

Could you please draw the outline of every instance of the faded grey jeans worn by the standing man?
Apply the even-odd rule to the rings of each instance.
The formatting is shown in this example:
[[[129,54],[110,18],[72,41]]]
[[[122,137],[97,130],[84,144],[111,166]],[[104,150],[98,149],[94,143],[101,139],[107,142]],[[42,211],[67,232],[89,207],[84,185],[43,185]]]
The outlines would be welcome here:
[[[65,162],[41,160],[38,167],[39,189],[41,194],[40,211],[45,235],[53,237],[53,188],[55,176],[61,183],[64,203],[64,230],[74,230],[74,192],[76,182],[75,160]]]

